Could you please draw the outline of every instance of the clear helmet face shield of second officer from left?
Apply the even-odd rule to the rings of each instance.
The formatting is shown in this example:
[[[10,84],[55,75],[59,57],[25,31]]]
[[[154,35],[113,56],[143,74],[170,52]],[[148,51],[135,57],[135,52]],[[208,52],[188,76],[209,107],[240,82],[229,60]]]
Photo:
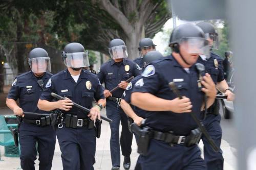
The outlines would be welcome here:
[[[65,53],[63,54],[64,64],[71,68],[88,67],[89,58],[88,51],[79,53]]]

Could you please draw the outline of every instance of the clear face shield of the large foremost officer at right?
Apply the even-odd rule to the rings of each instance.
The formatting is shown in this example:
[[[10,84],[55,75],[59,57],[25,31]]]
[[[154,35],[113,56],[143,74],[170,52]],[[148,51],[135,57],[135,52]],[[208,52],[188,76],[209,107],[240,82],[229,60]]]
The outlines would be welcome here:
[[[179,45],[188,54],[198,54],[206,56],[206,58],[210,57],[208,41],[204,38],[183,38],[179,41]]]

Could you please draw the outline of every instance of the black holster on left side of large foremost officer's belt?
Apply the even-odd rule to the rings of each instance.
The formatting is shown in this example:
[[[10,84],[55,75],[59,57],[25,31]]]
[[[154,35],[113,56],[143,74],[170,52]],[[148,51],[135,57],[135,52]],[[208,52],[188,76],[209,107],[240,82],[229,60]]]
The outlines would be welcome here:
[[[140,128],[135,123],[132,123],[131,130],[133,133],[138,135],[138,153],[141,155],[147,154],[148,145],[150,144],[150,139],[152,138],[151,128],[142,127]]]

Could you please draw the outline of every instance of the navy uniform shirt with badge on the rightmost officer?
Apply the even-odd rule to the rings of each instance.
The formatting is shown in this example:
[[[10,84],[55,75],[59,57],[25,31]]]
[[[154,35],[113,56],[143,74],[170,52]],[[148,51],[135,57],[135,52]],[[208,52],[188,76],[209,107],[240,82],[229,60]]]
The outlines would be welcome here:
[[[210,58],[206,60],[203,60],[201,57],[199,57],[197,63],[201,63],[205,66],[205,72],[210,74],[215,84],[224,80],[222,59],[217,54],[211,52]]]

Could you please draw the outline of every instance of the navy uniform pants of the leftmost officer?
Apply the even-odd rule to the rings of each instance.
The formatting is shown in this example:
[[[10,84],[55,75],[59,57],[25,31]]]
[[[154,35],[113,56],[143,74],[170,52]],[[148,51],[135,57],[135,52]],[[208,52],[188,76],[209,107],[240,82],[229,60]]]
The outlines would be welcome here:
[[[39,170],[52,167],[56,133],[51,126],[38,127],[21,123],[19,127],[20,165],[24,170],[35,169],[36,142],[39,156]]]

